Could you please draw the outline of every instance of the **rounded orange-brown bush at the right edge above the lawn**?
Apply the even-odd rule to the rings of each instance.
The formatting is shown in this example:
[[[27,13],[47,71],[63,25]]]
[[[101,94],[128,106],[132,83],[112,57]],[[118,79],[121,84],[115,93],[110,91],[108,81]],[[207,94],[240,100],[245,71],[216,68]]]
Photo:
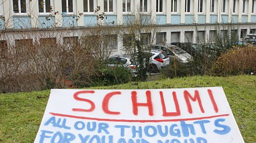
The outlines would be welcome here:
[[[256,47],[234,47],[221,55],[212,66],[217,76],[248,74],[256,72]]]

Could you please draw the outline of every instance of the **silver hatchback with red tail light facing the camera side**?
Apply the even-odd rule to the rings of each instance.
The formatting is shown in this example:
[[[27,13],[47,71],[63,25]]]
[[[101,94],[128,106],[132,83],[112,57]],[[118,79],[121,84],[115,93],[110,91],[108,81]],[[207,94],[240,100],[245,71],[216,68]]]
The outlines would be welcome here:
[[[149,58],[149,72],[156,73],[159,70],[162,70],[170,64],[170,58],[165,51],[159,49],[152,49],[148,51],[150,56]],[[135,52],[135,56],[138,55],[138,52]]]

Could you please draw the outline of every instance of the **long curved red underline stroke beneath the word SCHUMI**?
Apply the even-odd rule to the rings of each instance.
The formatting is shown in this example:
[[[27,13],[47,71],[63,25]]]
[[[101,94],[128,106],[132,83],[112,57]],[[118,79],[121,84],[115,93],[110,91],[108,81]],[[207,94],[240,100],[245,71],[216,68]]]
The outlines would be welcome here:
[[[92,117],[81,117],[81,116],[74,116],[74,115],[66,115],[66,114],[59,114],[59,113],[52,113],[53,116],[60,116],[60,117],[70,117],[76,119],[87,119],[87,120],[97,120],[97,121],[109,121],[109,122],[140,122],[140,123],[148,123],[148,122],[177,122],[177,121],[193,121],[193,120],[202,120],[202,119],[210,119],[215,117],[224,117],[229,116],[229,114],[221,114],[221,115],[214,115],[214,116],[207,116],[207,117],[196,117],[196,118],[183,118],[183,119],[164,119],[164,120],[126,120],[126,119],[102,119],[102,118],[92,118]]]

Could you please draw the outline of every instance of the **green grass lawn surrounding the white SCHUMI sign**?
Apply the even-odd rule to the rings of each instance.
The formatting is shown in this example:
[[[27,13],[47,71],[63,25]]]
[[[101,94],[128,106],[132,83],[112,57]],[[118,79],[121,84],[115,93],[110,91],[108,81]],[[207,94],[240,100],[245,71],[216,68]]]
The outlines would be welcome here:
[[[256,142],[256,76],[186,77],[93,89],[156,89],[222,86],[246,143]],[[31,143],[43,118],[50,90],[0,94],[0,142]]]

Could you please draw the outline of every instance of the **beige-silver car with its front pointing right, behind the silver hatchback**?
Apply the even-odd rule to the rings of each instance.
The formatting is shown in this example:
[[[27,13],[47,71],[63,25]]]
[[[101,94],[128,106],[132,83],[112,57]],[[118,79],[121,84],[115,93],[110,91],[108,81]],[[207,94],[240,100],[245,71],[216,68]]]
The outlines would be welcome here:
[[[186,51],[183,49],[180,49],[179,47],[175,45],[166,45],[166,46],[160,46],[156,45],[153,47],[154,49],[161,49],[167,53],[169,56],[170,60],[174,61],[177,60],[180,63],[188,63],[189,61],[193,60],[193,57],[188,54]]]

